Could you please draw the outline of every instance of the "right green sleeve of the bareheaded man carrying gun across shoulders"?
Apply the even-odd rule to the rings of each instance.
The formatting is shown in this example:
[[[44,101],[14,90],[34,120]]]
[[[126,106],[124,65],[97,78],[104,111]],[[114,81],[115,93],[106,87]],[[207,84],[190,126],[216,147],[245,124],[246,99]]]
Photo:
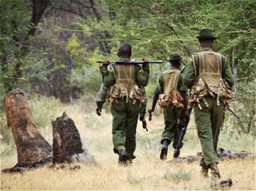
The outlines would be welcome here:
[[[149,65],[143,64],[142,68],[139,65],[135,66],[136,82],[142,86],[148,85],[149,80]]]

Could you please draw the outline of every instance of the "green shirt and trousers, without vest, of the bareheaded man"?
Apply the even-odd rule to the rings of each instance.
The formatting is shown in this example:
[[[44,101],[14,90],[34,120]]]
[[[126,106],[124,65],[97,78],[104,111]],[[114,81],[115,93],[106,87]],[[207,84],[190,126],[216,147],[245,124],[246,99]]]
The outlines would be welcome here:
[[[130,61],[130,59],[121,59]],[[101,66],[102,81],[106,88],[113,86],[116,82],[115,65],[108,71],[106,66]],[[149,65],[134,66],[134,81],[143,87],[147,86],[149,80]],[[112,134],[115,149],[126,149],[127,155],[134,158],[133,152],[136,148],[136,127],[139,116],[139,102],[133,103],[132,99],[119,98],[112,105],[113,115]]]

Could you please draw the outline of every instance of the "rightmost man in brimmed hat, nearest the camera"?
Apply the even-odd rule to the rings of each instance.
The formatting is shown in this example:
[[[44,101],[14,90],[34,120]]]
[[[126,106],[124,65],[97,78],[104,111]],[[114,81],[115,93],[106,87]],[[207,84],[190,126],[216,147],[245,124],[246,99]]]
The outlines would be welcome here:
[[[200,173],[208,177],[210,168],[212,176],[220,178],[216,150],[225,105],[232,98],[230,89],[234,76],[227,58],[212,50],[212,43],[216,40],[212,30],[208,27],[200,29],[197,39],[203,50],[189,59],[183,82],[191,90],[188,104],[194,106],[194,119],[202,147]]]

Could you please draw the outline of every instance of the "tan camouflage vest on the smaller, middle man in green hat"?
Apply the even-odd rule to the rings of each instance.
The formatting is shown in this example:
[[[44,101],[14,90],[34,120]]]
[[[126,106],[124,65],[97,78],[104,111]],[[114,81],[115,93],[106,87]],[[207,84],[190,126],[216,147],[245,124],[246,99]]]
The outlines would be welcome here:
[[[163,72],[163,94],[160,95],[160,108],[161,110],[164,109],[165,106],[169,104],[173,104],[174,107],[184,108],[183,105],[183,98],[178,88],[178,81],[179,81],[179,70],[170,69]],[[158,81],[158,88],[160,88],[159,80]]]

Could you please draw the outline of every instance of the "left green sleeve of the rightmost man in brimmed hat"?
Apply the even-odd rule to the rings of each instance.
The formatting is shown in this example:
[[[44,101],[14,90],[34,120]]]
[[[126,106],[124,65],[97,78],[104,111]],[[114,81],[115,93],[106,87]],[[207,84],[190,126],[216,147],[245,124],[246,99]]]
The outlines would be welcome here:
[[[194,66],[192,57],[188,60],[186,68],[182,74],[183,84],[190,88],[194,84]]]

